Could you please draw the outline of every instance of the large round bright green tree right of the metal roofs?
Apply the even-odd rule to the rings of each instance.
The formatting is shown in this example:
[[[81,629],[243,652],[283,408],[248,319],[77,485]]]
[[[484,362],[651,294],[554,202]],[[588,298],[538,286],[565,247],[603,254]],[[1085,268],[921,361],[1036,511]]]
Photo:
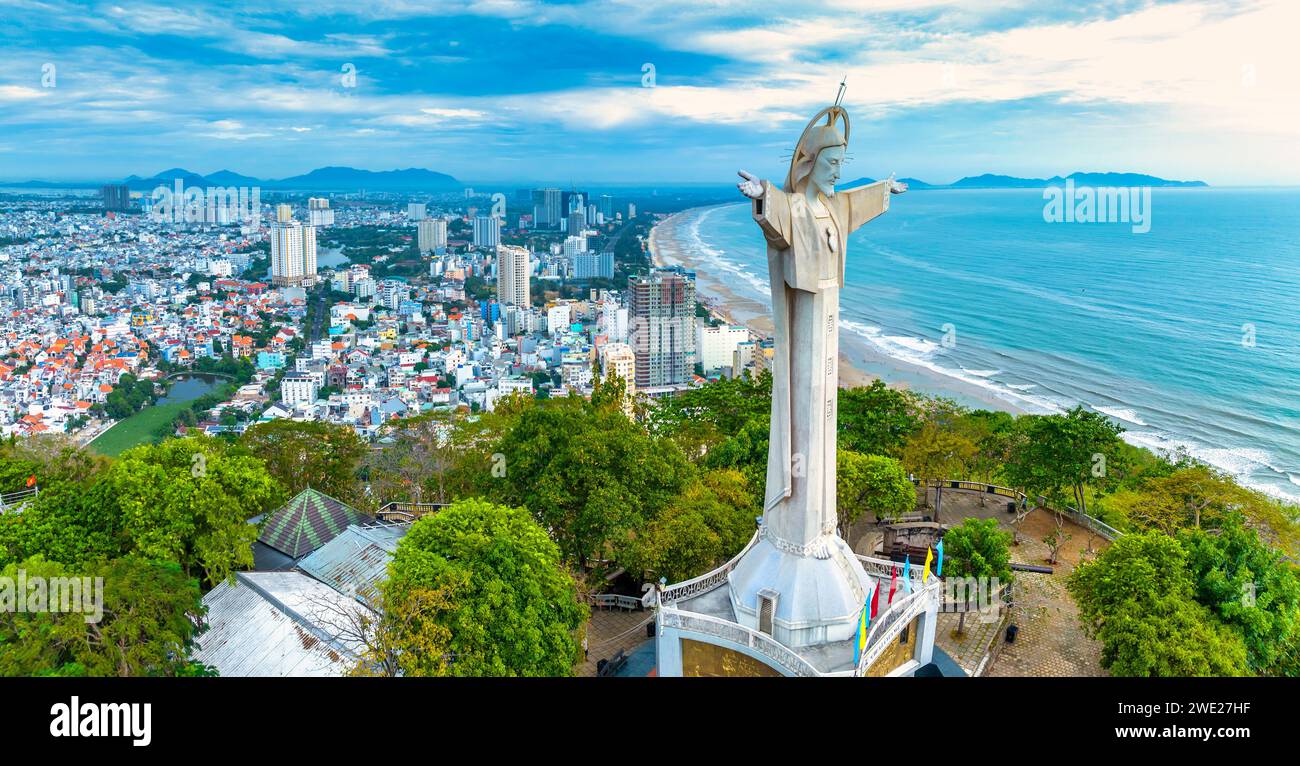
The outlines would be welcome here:
[[[412,675],[573,674],[588,607],[559,549],[524,508],[456,501],[411,527],[390,571],[384,585],[389,601],[402,602],[420,589],[450,600],[450,606],[425,610],[446,628],[450,657],[411,653]]]

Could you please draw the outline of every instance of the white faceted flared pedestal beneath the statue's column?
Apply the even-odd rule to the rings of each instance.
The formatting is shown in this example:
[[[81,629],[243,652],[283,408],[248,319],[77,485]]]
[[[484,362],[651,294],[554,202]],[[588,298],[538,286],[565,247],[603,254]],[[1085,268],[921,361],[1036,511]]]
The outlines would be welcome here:
[[[792,649],[853,640],[871,579],[848,542],[835,535],[818,542],[827,558],[763,535],[727,579],[736,622]]]

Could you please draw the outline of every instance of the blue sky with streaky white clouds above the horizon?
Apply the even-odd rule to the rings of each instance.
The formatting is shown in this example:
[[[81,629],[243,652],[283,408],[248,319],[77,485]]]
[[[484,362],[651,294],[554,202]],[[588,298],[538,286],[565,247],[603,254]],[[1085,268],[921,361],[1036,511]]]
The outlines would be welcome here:
[[[1300,183],[1297,0],[0,0],[0,20],[8,181],[779,178],[844,79],[846,178]]]

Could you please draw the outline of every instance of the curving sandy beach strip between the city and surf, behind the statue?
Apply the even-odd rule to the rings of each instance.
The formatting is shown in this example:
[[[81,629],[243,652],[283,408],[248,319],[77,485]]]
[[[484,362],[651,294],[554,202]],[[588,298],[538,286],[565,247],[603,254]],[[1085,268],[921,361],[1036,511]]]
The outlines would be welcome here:
[[[688,244],[680,230],[694,215],[708,208],[690,208],[668,216],[650,230],[650,258],[658,267],[680,265],[696,272],[696,298],[722,320],[749,328],[758,337],[772,336],[771,308],[733,290],[703,263],[701,254]],[[759,233],[755,229],[755,239]],[[968,406],[1008,412],[1026,410],[1000,399],[987,389],[937,375],[931,369],[894,359],[874,350],[852,333],[840,333],[840,388],[870,385],[880,378],[889,388],[915,389],[928,394],[952,397]]]

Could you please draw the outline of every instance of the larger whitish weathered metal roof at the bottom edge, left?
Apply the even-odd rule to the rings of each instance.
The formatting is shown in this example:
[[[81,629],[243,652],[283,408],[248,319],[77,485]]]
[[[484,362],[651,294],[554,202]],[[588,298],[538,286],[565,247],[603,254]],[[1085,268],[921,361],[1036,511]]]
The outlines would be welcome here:
[[[302,572],[238,572],[203,603],[209,628],[194,658],[224,676],[337,676],[356,662],[339,614],[365,607]]]

